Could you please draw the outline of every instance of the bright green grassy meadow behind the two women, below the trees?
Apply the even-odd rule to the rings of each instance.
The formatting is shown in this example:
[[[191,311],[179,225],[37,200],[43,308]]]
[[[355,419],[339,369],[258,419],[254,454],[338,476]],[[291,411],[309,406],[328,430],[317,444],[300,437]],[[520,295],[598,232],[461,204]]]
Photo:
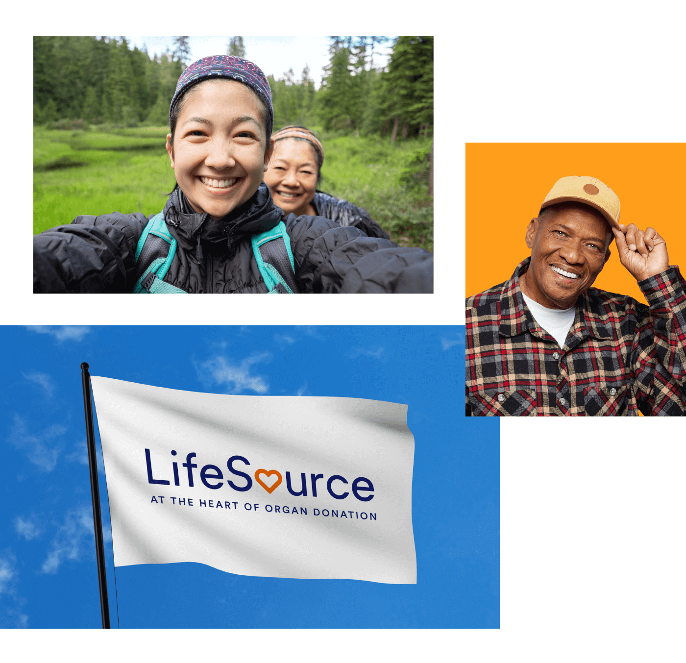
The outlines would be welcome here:
[[[161,211],[174,170],[167,127],[98,130],[33,128],[33,234],[81,214]],[[316,131],[316,128],[314,128]],[[322,191],[364,207],[401,246],[434,251],[433,199],[426,196],[424,155],[431,139],[322,136]]]

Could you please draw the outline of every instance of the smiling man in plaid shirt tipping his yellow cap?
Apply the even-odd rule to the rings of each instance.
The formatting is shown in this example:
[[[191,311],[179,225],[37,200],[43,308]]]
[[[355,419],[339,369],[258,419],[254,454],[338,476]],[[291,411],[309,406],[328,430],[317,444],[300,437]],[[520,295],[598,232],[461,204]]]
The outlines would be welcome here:
[[[526,229],[531,256],[465,300],[466,415],[686,414],[686,281],[619,207],[598,179],[560,178]],[[648,306],[591,288],[613,238]]]

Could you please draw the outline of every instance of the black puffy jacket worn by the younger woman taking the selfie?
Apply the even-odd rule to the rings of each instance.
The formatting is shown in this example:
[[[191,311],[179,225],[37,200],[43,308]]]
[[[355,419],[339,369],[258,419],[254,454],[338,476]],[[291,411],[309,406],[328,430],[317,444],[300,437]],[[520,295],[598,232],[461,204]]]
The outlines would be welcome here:
[[[169,196],[164,213],[178,246],[163,280],[189,294],[265,294],[250,237],[282,219],[305,294],[434,291],[432,253],[367,237],[320,216],[284,217],[264,183],[220,220],[195,213],[180,189]],[[149,218],[119,212],[78,216],[69,225],[34,235],[34,292],[132,292],[136,247]]]

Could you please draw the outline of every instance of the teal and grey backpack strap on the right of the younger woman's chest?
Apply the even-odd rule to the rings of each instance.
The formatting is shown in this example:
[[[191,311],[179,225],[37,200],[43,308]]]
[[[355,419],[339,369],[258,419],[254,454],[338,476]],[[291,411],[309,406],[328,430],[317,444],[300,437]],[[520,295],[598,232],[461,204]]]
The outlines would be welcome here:
[[[284,222],[280,221],[271,230],[252,235],[250,242],[268,294],[300,294],[291,240]]]

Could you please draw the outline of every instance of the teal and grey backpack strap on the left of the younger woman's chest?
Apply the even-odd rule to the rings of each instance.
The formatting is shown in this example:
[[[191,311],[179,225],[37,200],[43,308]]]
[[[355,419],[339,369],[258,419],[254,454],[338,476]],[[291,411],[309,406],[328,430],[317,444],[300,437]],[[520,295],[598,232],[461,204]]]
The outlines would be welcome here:
[[[136,285],[133,294],[188,294],[164,279],[176,253],[163,212],[147,222],[136,247]]]

